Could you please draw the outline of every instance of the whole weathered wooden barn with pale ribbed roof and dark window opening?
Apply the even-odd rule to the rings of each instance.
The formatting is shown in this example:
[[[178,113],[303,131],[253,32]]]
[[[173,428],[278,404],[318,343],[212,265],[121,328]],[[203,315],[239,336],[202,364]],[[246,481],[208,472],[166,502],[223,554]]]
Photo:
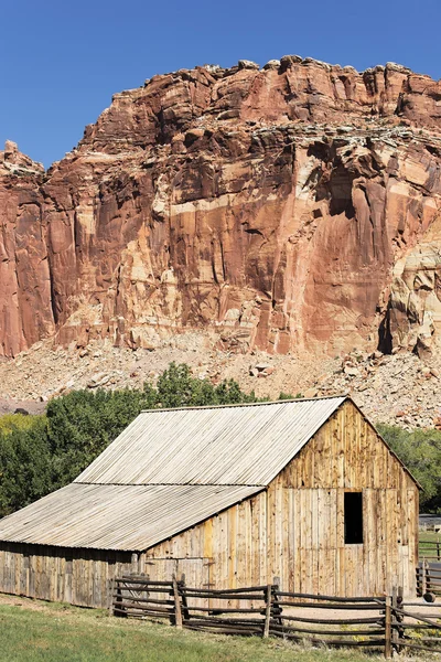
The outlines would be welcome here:
[[[418,485],[347,397],[152,410],[0,541],[1,591],[76,605],[121,573],[409,595]]]

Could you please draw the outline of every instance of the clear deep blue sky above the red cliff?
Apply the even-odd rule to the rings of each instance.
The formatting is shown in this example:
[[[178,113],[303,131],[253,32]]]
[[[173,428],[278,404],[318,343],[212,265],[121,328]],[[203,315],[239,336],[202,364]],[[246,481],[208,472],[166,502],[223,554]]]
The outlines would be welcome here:
[[[441,77],[440,0],[14,0],[0,2],[0,149],[49,167],[111,95],[197,64],[289,53]]]

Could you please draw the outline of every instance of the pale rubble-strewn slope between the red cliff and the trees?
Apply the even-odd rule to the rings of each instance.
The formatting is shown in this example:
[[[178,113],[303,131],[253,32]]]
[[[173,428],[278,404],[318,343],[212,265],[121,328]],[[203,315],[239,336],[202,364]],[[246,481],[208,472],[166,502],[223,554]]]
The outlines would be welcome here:
[[[237,380],[259,397],[326,396],[349,393],[374,421],[405,428],[441,429],[441,365],[416,354],[384,355],[353,351],[341,357],[247,354],[218,349],[215,334],[191,332],[161,341],[154,351],[116,348],[109,339],[87,348],[35,343],[17,359],[0,363],[0,414],[43,410],[47,399],[74,388],[140,388],[155,382],[171,361],[186,363],[193,374],[218,383]]]

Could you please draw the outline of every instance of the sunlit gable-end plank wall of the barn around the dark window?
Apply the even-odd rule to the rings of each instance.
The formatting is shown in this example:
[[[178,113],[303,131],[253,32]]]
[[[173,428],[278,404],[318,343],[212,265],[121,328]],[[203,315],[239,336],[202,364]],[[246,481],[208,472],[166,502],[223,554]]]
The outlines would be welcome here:
[[[344,543],[346,490],[363,491],[363,545]],[[300,592],[355,597],[402,586],[413,595],[418,488],[345,403],[267,490],[143,556],[208,557],[217,588],[279,577],[284,590]]]

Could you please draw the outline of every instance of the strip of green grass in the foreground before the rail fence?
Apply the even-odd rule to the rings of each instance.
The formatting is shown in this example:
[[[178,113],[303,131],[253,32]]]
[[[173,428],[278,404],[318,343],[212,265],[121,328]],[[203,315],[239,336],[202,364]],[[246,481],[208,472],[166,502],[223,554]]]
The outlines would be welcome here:
[[[374,662],[379,655],[227,638],[123,620],[101,610],[0,604],[1,662]],[[35,609],[37,607],[37,610]],[[426,658],[427,659],[427,658]]]

